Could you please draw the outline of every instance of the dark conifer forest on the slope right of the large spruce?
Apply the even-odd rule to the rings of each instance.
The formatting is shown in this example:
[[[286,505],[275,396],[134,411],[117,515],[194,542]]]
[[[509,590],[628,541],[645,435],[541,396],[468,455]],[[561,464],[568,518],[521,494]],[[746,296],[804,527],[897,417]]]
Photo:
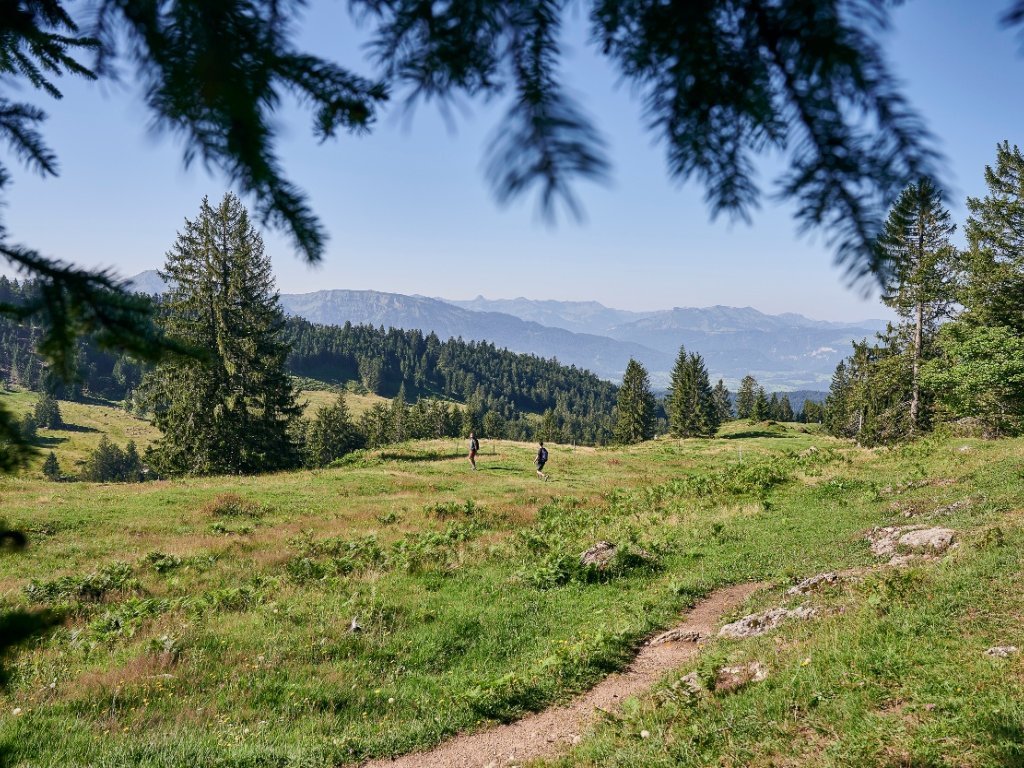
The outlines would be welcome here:
[[[588,444],[611,439],[616,387],[574,366],[483,341],[441,341],[434,333],[348,323],[318,326],[296,317],[288,318],[284,339],[291,348],[288,367],[296,375],[339,384],[357,381],[386,397],[400,392],[407,403],[425,397],[464,403],[456,434],[475,428],[494,438]],[[434,412],[438,408],[429,406]],[[379,412],[376,417],[375,423],[383,424]],[[413,410],[410,418],[436,424],[422,410]],[[368,437],[376,442],[382,433],[371,429]],[[401,431],[394,437],[402,435],[416,436]]]

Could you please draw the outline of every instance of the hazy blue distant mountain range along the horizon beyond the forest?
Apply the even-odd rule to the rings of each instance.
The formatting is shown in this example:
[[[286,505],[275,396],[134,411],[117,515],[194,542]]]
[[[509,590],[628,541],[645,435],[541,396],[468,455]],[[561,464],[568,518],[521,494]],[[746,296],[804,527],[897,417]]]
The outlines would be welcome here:
[[[164,290],[155,271],[131,282],[145,293]],[[682,344],[700,352],[713,379],[724,378],[732,388],[751,373],[769,390],[827,389],[850,342],[885,327],[883,321],[829,323],[751,307],[632,312],[593,301],[452,301],[378,291],[282,294],[281,301],[287,312],[312,323],[417,328],[442,339],[488,341],[515,352],[557,357],[611,380],[618,380],[635,357],[650,372],[655,387],[667,386]]]

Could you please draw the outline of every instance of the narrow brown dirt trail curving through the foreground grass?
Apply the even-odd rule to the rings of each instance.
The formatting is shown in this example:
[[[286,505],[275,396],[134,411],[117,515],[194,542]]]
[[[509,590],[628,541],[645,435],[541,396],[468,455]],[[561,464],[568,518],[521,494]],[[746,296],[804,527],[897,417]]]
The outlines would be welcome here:
[[[712,636],[724,613],[739,606],[761,584],[738,584],[716,590],[697,603],[675,630]],[[567,705],[553,707],[508,725],[456,736],[439,746],[400,758],[374,760],[364,768],[511,768],[548,757],[578,740],[600,710],[617,710],[630,696],[652,687],[668,671],[697,653],[692,641],[645,645],[621,673],[608,676]]]

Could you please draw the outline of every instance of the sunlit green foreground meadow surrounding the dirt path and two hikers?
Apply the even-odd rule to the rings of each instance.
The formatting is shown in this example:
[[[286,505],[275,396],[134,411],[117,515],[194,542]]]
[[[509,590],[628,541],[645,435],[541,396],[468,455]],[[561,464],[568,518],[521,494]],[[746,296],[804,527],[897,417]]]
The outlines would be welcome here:
[[[555,445],[550,482],[532,445],[489,443],[470,472],[457,440],[257,478],[0,479],[32,536],[0,558],[0,600],[63,615],[6,659],[0,753],[355,765],[564,698],[715,587],[769,581],[750,607],[777,605],[874,563],[865,529],[924,520],[959,531],[945,560],[807,598],[818,618],[696,663],[757,658],[766,682],[689,697],[674,676],[555,764],[1024,765],[1021,656],[983,653],[1024,646],[1024,442],[724,433]],[[579,564],[600,540],[621,545],[604,573]]]

